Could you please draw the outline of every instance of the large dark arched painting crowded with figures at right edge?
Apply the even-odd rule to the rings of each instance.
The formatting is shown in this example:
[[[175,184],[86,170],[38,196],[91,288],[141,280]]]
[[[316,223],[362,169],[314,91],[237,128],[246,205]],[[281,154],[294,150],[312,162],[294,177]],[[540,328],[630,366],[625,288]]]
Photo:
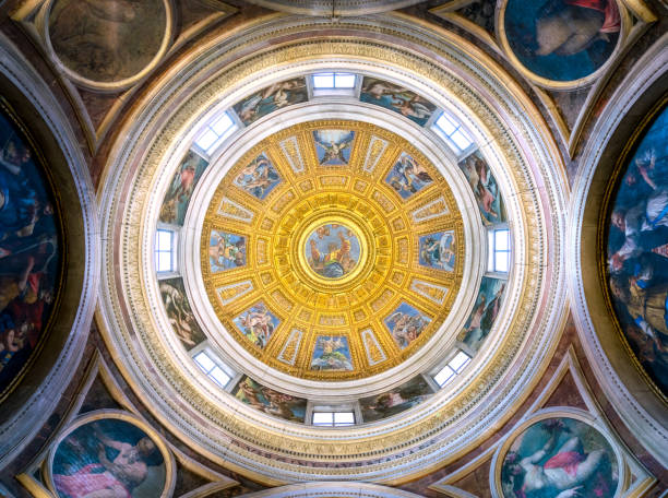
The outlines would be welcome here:
[[[622,333],[668,395],[668,110],[627,163],[610,214],[609,284]]]

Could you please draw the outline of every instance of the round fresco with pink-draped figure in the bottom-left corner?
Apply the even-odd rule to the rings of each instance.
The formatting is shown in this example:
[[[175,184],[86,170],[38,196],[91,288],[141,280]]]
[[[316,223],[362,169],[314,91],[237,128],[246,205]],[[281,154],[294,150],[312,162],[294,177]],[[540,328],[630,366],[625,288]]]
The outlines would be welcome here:
[[[83,424],[57,447],[51,475],[60,498],[159,497],[166,463],[156,442],[119,418]]]

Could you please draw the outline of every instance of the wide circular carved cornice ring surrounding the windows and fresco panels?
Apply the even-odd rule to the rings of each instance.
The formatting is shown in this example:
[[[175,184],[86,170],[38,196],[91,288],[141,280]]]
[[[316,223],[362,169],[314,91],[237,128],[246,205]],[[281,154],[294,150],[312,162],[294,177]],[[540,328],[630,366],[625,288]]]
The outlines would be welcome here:
[[[474,448],[522,403],[546,367],[563,320],[564,177],[554,166],[561,164],[560,156],[538,112],[527,110],[533,109],[529,99],[475,47],[468,46],[465,56],[458,48],[466,46],[464,40],[403,16],[383,17],[374,36],[387,39],[365,39],[370,22],[378,27],[378,19],[344,20],[330,26],[336,32],[332,38],[318,40],[309,39],[305,28],[326,23],[284,17],[251,29],[248,36],[212,40],[212,46],[201,48],[190,71],[181,72],[201,74],[206,83],[171,81],[159,88],[162,99],[147,95],[120,134],[134,140],[117,144],[106,169],[104,232],[114,244],[104,250],[100,322],[119,368],[152,413],[192,448],[274,485],[333,478],[396,484],[446,464]],[[405,37],[410,32],[417,32],[416,38]],[[283,35],[296,33],[307,40],[281,43]],[[415,54],[417,36],[422,51],[431,54]],[[237,47],[252,51],[254,43],[272,48],[230,62]],[[243,83],[258,75],[269,80],[278,70],[300,71],[308,61],[323,68],[327,61],[337,67],[359,64],[367,68],[365,72],[385,71],[395,80],[405,79],[467,126],[485,156],[502,165],[494,169],[502,190],[516,192],[509,203],[516,234],[517,264],[509,284],[513,292],[490,337],[501,347],[485,352],[476,368],[406,415],[348,429],[282,423],[231,404],[227,394],[210,384],[194,384],[192,374],[168,359],[182,354],[177,345],[162,343],[155,334],[146,286],[138,273],[141,261],[150,259],[150,248],[138,253],[146,230],[146,206],[140,198],[155,187],[154,173],[162,165],[176,164],[174,159],[183,153],[176,144],[189,143],[193,123],[220,100],[238,97]],[[164,112],[170,116],[167,121]],[[529,230],[532,237],[524,237]],[[118,273],[121,268],[123,274]],[[502,340],[497,334],[503,334]],[[136,347],[138,343],[143,345]]]

